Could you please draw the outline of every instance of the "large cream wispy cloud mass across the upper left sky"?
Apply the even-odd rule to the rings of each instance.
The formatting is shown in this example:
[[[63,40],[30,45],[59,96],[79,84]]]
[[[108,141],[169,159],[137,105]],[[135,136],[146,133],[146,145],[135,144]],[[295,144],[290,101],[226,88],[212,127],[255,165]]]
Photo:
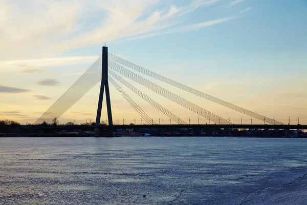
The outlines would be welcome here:
[[[189,31],[180,29],[180,24],[186,24],[185,17],[217,2],[220,0],[190,0],[186,5],[177,1],[176,5],[171,4],[167,0],[92,0],[90,3],[87,0],[28,0],[12,4],[3,0],[0,1],[0,60],[45,59],[70,49],[101,45],[102,41]],[[48,66],[43,60],[36,63],[41,63],[38,67]]]

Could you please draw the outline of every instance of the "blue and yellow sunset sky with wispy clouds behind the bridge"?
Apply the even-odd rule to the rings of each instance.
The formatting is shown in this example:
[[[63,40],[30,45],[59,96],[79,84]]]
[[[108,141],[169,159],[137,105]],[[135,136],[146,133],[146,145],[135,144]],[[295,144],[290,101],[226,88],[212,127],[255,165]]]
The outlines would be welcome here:
[[[306,0],[0,0],[0,8],[0,120],[35,122],[106,43],[109,53],[209,95],[287,124],[289,116],[290,124],[307,124]],[[241,118],[263,123],[158,84],[234,124]],[[198,114],[134,85],[198,123]],[[155,122],[170,123],[121,86]],[[95,121],[99,87],[59,121]],[[140,123],[112,85],[110,92],[114,123]]]

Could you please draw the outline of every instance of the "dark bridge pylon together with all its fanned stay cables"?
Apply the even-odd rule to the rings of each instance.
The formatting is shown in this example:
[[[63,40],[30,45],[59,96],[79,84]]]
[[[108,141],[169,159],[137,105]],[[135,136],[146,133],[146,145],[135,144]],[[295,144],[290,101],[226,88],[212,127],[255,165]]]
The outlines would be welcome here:
[[[210,100],[216,104],[221,106],[227,107],[229,109],[235,110],[237,112],[243,113],[245,115],[250,116],[251,118],[255,118],[261,121],[264,121],[263,125],[233,125],[230,120],[224,119],[220,116],[215,115],[204,108],[191,103],[191,101],[174,94],[173,92],[162,88],[161,86],[153,83],[152,81],[140,76],[139,74],[135,73],[134,71],[143,73],[147,76],[160,80],[166,84],[179,88],[183,91],[191,93],[195,96]],[[133,64],[123,58],[120,58],[114,54],[108,53],[107,47],[102,48],[102,55],[95,61],[95,63],[87,69],[76,81],[75,83],[65,91],[56,101],[55,103],[45,112],[43,113],[35,122],[35,124],[39,124],[43,121],[48,123],[52,122],[54,118],[59,118],[62,114],[64,114],[68,109],[70,109],[77,101],[84,96],[87,92],[89,92],[95,85],[101,81],[100,84],[100,92],[99,92],[99,100],[98,100],[98,108],[97,108],[97,115],[96,115],[96,134],[100,135],[99,128],[105,129],[105,126],[100,126],[100,118],[101,118],[101,110],[102,110],[102,101],[103,95],[105,91],[105,98],[106,98],[106,108],[107,108],[107,117],[108,117],[108,128],[109,129],[116,129],[116,128],[128,128],[129,126],[120,126],[120,125],[113,125],[113,118],[112,118],[112,106],[111,106],[111,97],[109,92],[109,82],[118,90],[118,92],[128,101],[128,103],[135,109],[135,111],[141,116],[143,122],[147,124],[149,127],[157,127],[158,125],[149,117],[143,109],[138,106],[138,104],[132,99],[122,87],[127,87],[141,98],[147,101],[150,105],[158,109],[160,112],[165,114],[169,117],[170,120],[173,122],[177,122],[179,127],[191,127],[191,125],[187,125],[187,123],[182,120],[177,115],[173,114],[165,107],[157,103],[154,99],[150,96],[146,95],[144,92],[137,89],[135,86],[130,84],[127,80],[125,80],[122,76],[129,78],[130,80],[135,81],[136,83],[140,84],[141,86],[156,92],[157,94],[173,101],[174,103],[190,110],[191,112],[197,113],[198,115],[211,120],[216,127],[219,128],[265,128],[265,125],[270,124],[270,128],[276,129],[284,129],[289,125],[285,125],[280,121],[275,120],[274,118],[266,117],[265,115],[261,115],[255,113],[253,111],[247,110],[245,108],[236,106],[231,104],[227,101],[222,99],[213,97],[208,95],[202,91],[193,89],[186,85],[183,85],[175,80],[169,79],[165,76],[162,76],[158,73],[152,72],[147,70],[143,67],[140,67],[136,64]],[[121,86],[119,85],[119,83]],[[148,127],[146,126],[146,127]],[[162,125],[159,125],[160,127]],[[171,125],[170,125],[171,126]],[[175,126],[175,125],[173,125]],[[193,125],[193,126],[200,126],[200,125]],[[209,125],[208,125],[209,126]],[[134,126],[131,125],[130,128]],[[289,127],[287,127],[289,128]],[[293,127],[294,128],[294,127]],[[297,128],[297,126],[295,127]]]

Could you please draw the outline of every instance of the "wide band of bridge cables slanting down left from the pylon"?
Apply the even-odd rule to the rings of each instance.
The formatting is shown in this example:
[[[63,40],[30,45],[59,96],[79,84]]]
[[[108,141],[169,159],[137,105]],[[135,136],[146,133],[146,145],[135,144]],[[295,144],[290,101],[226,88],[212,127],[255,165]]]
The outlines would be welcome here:
[[[43,121],[48,123],[53,118],[59,118],[63,113],[70,109],[82,96],[91,90],[101,80],[101,61],[100,56],[89,69],[87,69],[75,83],[65,91],[55,103],[43,113],[35,122],[39,124]]]

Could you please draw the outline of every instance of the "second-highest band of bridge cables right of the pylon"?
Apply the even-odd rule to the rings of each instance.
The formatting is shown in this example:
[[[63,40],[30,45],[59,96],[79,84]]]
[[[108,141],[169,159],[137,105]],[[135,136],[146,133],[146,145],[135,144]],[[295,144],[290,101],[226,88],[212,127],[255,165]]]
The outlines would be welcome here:
[[[195,104],[191,103],[190,101],[152,83],[151,81],[139,76],[138,74],[129,71],[128,69],[119,66],[118,64],[116,64],[115,62],[113,62],[112,60],[109,60],[108,62],[108,66],[110,69],[115,70],[117,72],[119,72],[120,74],[136,81],[138,84],[147,87],[148,89],[174,101],[175,103],[207,118],[207,119],[211,119],[212,121],[216,122],[217,124],[221,123],[221,124],[231,124],[231,122],[228,122],[226,119],[223,119],[221,117],[218,117],[217,115],[199,107],[196,106]]]

